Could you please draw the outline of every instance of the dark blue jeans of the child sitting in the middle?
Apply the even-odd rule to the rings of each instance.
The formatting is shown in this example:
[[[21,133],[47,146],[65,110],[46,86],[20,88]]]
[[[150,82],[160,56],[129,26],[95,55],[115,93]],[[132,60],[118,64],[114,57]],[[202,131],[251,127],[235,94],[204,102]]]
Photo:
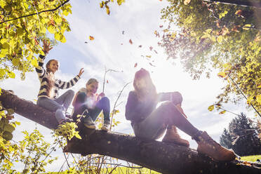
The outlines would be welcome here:
[[[109,98],[104,97],[100,99],[95,107],[93,109],[90,109],[86,105],[87,101],[87,95],[86,93],[79,93],[75,100],[75,106],[74,106],[74,114],[72,115],[72,119],[76,121],[78,114],[83,114],[84,116],[91,116],[91,119],[95,121],[100,114],[101,111],[103,111],[104,115],[104,121],[109,121],[109,113],[110,113],[110,105],[109,105]],[[88,110],[88,112],[84,112],[85,110]],[[84,122],[84,118],[81,119],[81,121]]]

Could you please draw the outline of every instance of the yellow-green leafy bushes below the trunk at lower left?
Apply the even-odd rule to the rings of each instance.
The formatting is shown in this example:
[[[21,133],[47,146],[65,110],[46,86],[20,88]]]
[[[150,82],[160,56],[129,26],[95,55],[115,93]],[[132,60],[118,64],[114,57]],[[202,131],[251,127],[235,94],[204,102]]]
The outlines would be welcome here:
[[[44,141],[44,136],[38,130],[32,133],[23,131],[25,139],[18,143],[11,143],[0,137],[1,148],[1,171],[5,173],[42,173],[45,167],[53,163],[57,158],[48,154],[48,150],[53,151],[55,147]],[[25,165],[22,171],[15,168],[16,163]]]

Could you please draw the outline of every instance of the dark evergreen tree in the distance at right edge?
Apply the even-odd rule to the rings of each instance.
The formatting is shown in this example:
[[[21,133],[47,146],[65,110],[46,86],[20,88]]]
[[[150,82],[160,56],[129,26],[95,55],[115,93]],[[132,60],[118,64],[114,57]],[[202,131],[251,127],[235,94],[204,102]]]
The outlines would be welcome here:
[[[232,148],[240,156],[261,154],[257,129],[257,126],[241,113],[241,116],[232,119],[228,131],[225,129],[220,136],[220,145]]]

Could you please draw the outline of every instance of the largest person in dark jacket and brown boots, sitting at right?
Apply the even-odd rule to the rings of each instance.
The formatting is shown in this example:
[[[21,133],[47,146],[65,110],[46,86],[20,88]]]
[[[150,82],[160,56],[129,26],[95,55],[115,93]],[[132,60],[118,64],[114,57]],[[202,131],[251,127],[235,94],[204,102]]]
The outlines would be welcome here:
[[[182,96],[178,92],[156,93],[149,72],[140,69],[135,73],[133,81],[134,91],[128,95],[126,104],[126,119],[131,120],[131,126],[136,136],[156,140],[163,138],[165,142],[189,146],[175,130],[177,126],[196,140],[198,152],[206,154],[216,161],[232,161],[235,159],[233,151],[215,142],[206,131],[199,131],[187,119],[181,108]],[[163,102],[165,101],[165,102]],[[163,104],[156,108],[158,102]]]

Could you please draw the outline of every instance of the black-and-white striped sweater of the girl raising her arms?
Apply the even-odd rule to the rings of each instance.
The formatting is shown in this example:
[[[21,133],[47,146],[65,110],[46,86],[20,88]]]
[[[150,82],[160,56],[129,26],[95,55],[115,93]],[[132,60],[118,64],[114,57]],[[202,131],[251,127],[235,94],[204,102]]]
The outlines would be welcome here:
[[[74,79],[71,79],[68,82],[61,81],[60,79],[55,79],[54,86],[51,89],[51,96],[48,97],[46,91],[47,91],[47,83],[48,83],[48,72],[46,72],[46,69],[44,69],[44,55],[39,55],[38,58],[38,67],[35,68],[38,76],[39,81],[41,83],[40,90],[38,93],[38,98],[56,98],[58,96],[58,90],[59,89],[67,89],[74,86],[74,84],[80,79],[80,77],[77,75],[74,77]]]

